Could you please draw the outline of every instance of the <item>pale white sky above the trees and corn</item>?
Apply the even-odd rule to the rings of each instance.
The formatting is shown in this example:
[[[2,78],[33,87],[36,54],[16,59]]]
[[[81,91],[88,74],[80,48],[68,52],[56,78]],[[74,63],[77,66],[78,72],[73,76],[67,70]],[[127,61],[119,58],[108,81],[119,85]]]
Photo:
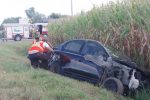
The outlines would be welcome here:
[[[93,5],[100,6],[109,1],[117,0],[72,0],[73,14],[92,9]],[[35,11],[45,14],[59,13],[71,15],[71,0],[0,0],[0,23],[8,17],[25,18],[25,10],[34,7]]]

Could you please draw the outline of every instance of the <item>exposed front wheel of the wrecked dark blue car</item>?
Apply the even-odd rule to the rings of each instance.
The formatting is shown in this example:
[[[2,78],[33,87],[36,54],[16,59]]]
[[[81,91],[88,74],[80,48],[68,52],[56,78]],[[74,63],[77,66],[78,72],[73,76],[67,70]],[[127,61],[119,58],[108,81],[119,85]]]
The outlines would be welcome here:
[[[102,86],[107,90],[113,91],[117,94],[123,94],[124,91],[122,82],[115,77],[109,77],[104,80]]]

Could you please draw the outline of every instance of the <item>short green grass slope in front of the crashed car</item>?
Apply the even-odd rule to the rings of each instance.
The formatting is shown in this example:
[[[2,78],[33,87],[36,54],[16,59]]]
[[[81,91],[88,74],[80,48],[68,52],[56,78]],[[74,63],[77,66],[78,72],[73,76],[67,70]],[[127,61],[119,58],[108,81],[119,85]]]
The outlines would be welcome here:
[[[86,82],[33,69],[31,41],[0,44],[0,100],[127,100]]]

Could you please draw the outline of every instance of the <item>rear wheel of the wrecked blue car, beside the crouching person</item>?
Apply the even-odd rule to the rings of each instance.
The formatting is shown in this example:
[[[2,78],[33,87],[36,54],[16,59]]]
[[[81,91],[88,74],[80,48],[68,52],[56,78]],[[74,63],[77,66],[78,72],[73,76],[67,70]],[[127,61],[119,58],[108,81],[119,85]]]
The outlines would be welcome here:
[[[54,72],[54,73],[61,73],[61,67],[59,65],[58,62],[52,62],[52,64],[50,65],[50,71]]]

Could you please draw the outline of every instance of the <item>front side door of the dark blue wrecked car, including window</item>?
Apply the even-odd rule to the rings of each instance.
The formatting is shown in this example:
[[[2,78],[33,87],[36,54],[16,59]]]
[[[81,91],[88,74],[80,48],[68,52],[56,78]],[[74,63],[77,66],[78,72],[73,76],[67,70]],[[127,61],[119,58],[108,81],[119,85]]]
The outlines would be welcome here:
[[[98,56],[108,57],[109,55],[104,47],[96,41],[87,41],[81,54],[84,56],[82,63],[89,65],[85,66],[86,71],[89,73],[88,77],[99,79],[104,70],[91,59],[95,59]],[[87,56],[89,59],[86,58]]]

